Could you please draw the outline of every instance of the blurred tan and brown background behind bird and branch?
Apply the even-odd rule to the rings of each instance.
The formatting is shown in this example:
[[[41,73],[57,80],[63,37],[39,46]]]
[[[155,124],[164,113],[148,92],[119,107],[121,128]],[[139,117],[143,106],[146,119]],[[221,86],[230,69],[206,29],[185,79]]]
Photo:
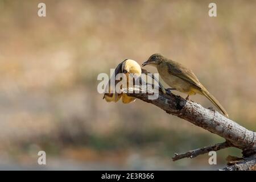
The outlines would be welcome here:
[[[205,170],[241,156],[229,148],[217,152],[217,166],[207,154],[172,162],[174,152],[224,139],[154,105],[107,103],[97,92],[99,73],[162,53],[255,130],[256,1],[214,1],[213,18],[210,2],[0,0],[0,169]]]

